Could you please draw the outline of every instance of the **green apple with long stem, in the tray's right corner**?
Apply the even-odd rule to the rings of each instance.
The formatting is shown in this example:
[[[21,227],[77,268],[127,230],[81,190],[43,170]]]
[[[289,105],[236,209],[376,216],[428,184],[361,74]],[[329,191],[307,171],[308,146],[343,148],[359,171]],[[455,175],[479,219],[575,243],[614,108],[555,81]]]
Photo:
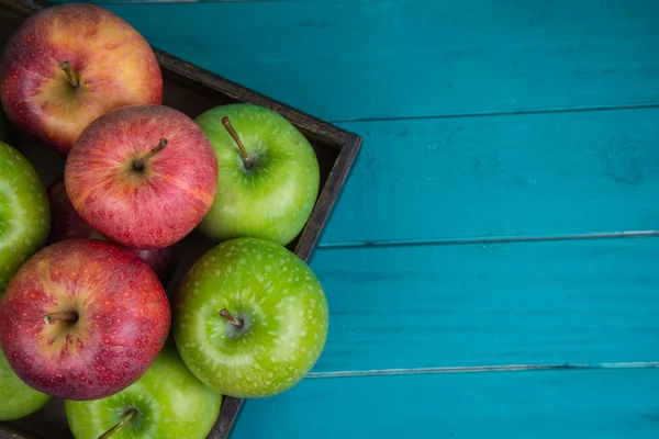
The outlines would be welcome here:
[[[213,241],[292,241],[319,193],[319,161],[309,140],[279,113],[246,103],[216,106],[196,122],[219,164],[215,201],[198,229]]]

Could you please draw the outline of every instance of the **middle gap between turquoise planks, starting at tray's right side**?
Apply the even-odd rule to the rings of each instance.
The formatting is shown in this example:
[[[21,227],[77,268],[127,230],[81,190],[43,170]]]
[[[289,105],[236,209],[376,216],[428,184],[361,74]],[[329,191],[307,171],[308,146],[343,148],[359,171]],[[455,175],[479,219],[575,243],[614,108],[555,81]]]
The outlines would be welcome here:
[[[348,248],[371,247],[420,247],[420,246],[455,246],[455,245],[489,245],[507,243],[534,243],[556,240],[587,240],[587,239],[622,239],[622,238],[648,238],[659,237],[659,230],[628,230],[578,235],[547,235],[547,236],[494,236],[474,238],[447,238],[447,239],[400,239],[379,241],[354,241],[354,243],[330,243],[319,244],[317,249],[343,250]]]

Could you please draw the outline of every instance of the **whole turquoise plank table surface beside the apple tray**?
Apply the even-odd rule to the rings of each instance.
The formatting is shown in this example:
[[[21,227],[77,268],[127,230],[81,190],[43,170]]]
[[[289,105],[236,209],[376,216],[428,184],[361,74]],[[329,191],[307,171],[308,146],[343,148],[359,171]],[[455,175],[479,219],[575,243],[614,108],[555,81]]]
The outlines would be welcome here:
[[[326,349],[234,439],[659,436],[657,0],[109,8],[365,138]]]

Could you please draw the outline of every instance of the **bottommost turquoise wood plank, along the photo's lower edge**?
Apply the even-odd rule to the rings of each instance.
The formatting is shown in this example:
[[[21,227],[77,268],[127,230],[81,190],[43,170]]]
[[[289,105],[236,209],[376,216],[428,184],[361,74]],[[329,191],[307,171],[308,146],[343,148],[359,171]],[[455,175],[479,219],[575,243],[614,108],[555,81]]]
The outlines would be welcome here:
[[[231,438],[655,439],[658,390],[647,369],[306,379]]]

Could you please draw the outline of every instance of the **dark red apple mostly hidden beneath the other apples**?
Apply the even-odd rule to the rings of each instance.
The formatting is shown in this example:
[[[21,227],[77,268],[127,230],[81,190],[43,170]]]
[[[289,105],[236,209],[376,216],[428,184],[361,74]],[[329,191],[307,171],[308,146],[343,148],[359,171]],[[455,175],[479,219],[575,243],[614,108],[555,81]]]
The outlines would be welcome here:
[[[108,238],[78,215],[66,193],[64,177],[55,179],[48,185],[47,192],[51,204],[51,235],[48,236],[48,244],[71,238],[108,240]],[[163,285],[167,285],[174,277],[178,259],[181,256],[180,243],[164,248],[129,250],[144,259],[154,269]]]

